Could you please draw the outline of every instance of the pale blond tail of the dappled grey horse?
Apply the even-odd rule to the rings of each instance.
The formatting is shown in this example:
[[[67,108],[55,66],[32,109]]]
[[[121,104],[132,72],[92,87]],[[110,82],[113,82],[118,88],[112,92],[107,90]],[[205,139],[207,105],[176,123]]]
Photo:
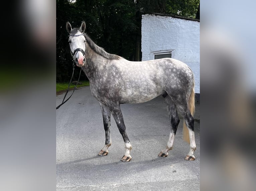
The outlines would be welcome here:
[[[194,116],[194,113],[195,113],[195,90],[194,90],[194,88],[195,88],[195,80],[193,79],[192,89],[191,89],[189,99],[188,99],[188,107],[189,107],[189,110],[190,110],[190,113],[192,116]],[[184,120],[183,120],[183,140],[190,143],[188,129],[187,129],[187,126],[186,126]]]

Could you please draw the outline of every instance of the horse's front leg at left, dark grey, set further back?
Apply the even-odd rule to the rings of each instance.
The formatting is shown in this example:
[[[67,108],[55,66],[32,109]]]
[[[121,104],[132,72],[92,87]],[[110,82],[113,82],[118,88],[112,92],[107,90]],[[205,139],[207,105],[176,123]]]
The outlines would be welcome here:
[[[110,111],[106,105],[100,102],[103,124],[105,129],[106,141],[105,146],[101,149],[98,155],[106,156],[108,152],[108,147],[111,145],[111,136],[110,136]]]

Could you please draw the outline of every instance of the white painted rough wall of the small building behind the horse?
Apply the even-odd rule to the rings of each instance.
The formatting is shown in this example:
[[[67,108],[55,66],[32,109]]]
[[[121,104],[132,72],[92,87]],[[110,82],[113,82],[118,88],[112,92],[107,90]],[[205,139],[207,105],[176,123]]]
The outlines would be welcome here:
[[[142,61],[153,60],[154,52],[163,50],[172,50],[172,58],[191,68],[195,77],[195,93],[200,93],[200,22],[142,15]]]

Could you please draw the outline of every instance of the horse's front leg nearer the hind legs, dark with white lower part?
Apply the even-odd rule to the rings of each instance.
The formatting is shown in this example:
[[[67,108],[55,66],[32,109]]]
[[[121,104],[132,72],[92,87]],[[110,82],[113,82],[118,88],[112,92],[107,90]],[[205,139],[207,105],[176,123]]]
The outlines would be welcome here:
[[[124,139],[124,145],[125,145],[125,154],[123,156],[123,158],[121,159],[121,161],[123,162],[129,162],[131,161],[132,157],[130,155],[130,151],[132,149],[132,145],[130,143],[130,140],[126,134],[126,128],[125,128],[125,124],[124,124],[124,119],[123,119],[123,115],[122,115],[122,111],[120,108],[120,104],[117,105],[112,105],[110,107],[110,111],[116,121],[117,127],[119,132],[121,133],[123,139]]]

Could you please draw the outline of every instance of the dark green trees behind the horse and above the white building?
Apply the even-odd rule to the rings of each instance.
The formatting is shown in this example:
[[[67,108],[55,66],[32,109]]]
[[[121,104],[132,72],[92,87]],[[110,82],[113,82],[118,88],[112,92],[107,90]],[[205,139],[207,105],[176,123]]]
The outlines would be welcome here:
[[[67,21],[72,27],[85,21],[86,33],[98,46],[133,61],[141,58],[141,11],[195,18],[198,4],[199,0],[56,0],[56,81],[67,82],[72,75]],[[74,79],[78,75],[75,72]],[[84,73],[81,79],[87,79]]]

